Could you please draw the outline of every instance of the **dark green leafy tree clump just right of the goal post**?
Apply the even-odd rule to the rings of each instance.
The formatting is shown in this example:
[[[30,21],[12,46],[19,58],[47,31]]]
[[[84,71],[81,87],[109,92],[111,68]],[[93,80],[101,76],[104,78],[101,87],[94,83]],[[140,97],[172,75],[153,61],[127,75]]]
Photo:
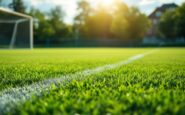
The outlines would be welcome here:
[[[59,6],[43,13],[31,8],[29,15],[34,17],[34,38],[41,44],[59,43],[62,38],[72,36],[72,26],[64,23],[64,12]]]

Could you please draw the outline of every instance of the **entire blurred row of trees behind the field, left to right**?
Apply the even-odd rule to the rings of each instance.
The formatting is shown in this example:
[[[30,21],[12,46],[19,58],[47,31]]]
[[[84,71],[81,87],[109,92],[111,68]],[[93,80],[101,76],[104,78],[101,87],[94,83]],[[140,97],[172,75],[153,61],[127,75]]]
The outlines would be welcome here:
[[[2,0],[0,0],[1,4]],[[9,7],[34,17],[34,38],[40,43],[60,43],[62,40],[116,39],[140,43],[150,27],[150,20],[136,7],[128,7],[116,0],[112,7],[100,4],[93,8],[87,0],[78,1],[78,14],[73,24],[64,22],[61,6],[42,12],[26,9],[23,0],[12,0]],[[159,36],[185,37],[185,4],[175,11],[167,11],[159,22]]]

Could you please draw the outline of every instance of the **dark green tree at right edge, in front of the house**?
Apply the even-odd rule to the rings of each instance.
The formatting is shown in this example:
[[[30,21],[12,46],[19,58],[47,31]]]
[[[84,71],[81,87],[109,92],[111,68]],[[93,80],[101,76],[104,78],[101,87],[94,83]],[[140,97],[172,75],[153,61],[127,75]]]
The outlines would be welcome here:
[[[175,10],[166,11],[159,22],[159,37],[170,40],[185,38],[185,3]]]

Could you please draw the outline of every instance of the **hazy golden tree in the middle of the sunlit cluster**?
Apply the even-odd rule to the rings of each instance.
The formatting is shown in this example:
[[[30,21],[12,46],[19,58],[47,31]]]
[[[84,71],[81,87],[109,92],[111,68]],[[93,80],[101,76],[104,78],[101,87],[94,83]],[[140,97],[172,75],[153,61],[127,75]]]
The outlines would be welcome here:
[[[111,38],[110,31],[112,24],[112,14],[104,6],[99,6],[91,16],[86,20],[85,26],[87,28],[88,38]]]

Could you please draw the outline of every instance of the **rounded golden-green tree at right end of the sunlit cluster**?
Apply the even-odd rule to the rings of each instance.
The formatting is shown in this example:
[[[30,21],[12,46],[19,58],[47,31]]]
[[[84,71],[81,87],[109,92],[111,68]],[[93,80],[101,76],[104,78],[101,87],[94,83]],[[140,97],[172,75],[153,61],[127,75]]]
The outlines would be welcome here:
[[[150,26],[149,19],[137,8],[129,8],[121,1],[116,3],[112,32],[117,38],[128,41],[141,41]]]

